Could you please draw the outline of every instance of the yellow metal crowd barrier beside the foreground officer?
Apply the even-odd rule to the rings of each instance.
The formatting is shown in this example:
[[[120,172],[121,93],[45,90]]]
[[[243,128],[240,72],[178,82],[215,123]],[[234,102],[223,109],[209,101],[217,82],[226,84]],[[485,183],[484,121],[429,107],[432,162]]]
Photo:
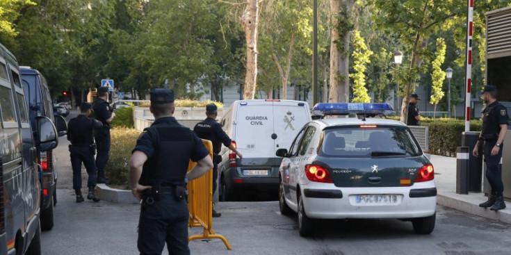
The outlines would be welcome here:
[[[209,156],[213,157],[213,145],[209,140],[202,140],[204,146],[209,150]],[[188,164],[188,171],[195,167],[195,163],[190,161]],[[204,176],[190,181],[188,183],[188,210],[190,211],[190,222],[188,226],[203,227],[204,233],[202,235],[194,235],[188,238],[188,242],[194,239],[212,239],[218,238],[222,240],[227,247],[231,249],[231,245],[227,239],[218,235],[211,227],[213,224],[213,217],[211,216],[213,210],[213,171],[209,171]]]

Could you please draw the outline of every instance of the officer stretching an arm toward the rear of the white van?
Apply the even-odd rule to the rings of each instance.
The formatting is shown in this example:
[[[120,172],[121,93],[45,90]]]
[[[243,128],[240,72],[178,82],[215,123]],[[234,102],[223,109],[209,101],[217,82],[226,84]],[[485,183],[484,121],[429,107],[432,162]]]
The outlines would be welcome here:
[[[216,192],[217,188],[217,179],[218,179],[218,163],[222,161],[222,157],[218,155],[220,153],[220,149],[222,149],[222,144],[225,147],[231,149],[236,153],[240,158],[243,158],[243,155],[232,145],[232,140],[229,138],[229,135],[222,130],[222,125],[216,122],[216,117],[218,116],[217,107],[215,104],[208,104],[206,106],[206,120],[199,122],[193,128],[193,131],[197,133],[197,135],[204,139],[210,140],[213,143],[213,195]],[[212,212],[213,217],[220,217],[222,214],[215,211],[213,208]]]

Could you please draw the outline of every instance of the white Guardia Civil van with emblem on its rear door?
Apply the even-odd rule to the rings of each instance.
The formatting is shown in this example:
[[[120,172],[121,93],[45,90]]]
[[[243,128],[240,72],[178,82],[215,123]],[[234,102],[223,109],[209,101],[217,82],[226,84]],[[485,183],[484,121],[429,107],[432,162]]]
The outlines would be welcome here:
[[[309,104],[292,100],[241,100],[224,111],[220,120],[243,159],[222,147],[218,164],[219,199],[228,201],[238,188],[279,188],[277,149],[289,149],[302,126],[311,121]]]

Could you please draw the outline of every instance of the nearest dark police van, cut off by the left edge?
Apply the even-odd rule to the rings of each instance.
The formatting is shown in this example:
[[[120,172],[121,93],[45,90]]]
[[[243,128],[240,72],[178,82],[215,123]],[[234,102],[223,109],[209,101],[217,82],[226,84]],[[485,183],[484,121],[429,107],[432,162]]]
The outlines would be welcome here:
[[[0,44],[0,255],[41,254],[37,157],[58,145],[49,118],[35,118],[32,135],[17,60]]]

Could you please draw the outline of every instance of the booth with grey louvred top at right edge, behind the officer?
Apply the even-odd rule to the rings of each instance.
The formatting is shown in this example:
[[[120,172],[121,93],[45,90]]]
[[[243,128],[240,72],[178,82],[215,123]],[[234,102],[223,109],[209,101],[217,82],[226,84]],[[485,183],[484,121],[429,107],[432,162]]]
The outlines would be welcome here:
[[[511,7],[486,13],[486,79],[498,89],[498,101],[511,113]],[[504,197],[511,199],[511,126],[503,142],[502,181]],[[489,184],[485,179],[485,193]]]

